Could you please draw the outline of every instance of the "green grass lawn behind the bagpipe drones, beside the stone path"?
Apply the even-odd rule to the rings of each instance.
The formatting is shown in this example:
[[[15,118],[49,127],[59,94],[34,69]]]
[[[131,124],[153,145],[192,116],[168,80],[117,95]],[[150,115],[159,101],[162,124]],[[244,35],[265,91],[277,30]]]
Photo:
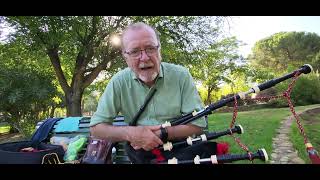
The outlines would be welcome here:
[[[297,112],[304,111],[308,108],[320,107],[320,105],[295,107]],[[272,152],[272,138],[276,136],[276,131],[280,122],[285,117],[290,116],[289,108],[259,109],[254,111],[238,112],[238,118],[235,124],[240,124],[244,129],[244,134],[238,135],[241,142],[245,144],[251,152],[256,152],[260,148],[265,148],[269,158]],[[224,131],[229,128],[232,120],[232,113],[213,113],[209,116],[209,131]],[[230,153],[246,153],[234,141],[231,136],[223,136],[216,139],[217,142],[228,142],[230,144]],[[234,163],[251,163],[243,160]],[[255,160],[255,164],[264,163]]]

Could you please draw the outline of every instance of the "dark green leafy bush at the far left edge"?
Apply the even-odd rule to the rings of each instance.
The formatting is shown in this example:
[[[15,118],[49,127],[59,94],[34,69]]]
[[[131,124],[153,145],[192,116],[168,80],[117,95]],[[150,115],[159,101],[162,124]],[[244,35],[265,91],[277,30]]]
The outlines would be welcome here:
[[[44,64],[41,68],[41,63],[33,61],[35,56],[17,44],[0,46],[0,114],[26,136],[34,130],[35,122],[47,117],[57,94],[54,76]]]

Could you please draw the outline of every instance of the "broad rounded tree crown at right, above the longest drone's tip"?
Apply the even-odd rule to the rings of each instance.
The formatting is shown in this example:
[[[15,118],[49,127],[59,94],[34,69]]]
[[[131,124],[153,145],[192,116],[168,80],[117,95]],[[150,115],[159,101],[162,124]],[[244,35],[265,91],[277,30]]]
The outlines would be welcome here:
[[[259,74],[279,75],[304,63],[320,67],[320,36],[309,32],[279,32],[262,39],[248,57]]]

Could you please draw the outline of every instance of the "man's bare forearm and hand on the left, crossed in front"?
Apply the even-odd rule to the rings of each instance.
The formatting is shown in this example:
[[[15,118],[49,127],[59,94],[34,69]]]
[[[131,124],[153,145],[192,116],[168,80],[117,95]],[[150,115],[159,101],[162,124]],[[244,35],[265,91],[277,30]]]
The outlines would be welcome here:
[[[129,141],[134,149],[149,151],[162,145],[162,141],[154,133],[160,129],[158,126],[112,126],[99,123],[90,127],[91,135],[110,139],[112,142]]]

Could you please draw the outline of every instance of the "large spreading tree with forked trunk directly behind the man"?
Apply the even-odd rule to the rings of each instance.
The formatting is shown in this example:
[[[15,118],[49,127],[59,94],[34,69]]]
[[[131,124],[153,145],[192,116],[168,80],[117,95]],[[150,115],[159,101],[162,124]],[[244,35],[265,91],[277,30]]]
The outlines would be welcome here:
[[[219,17],[5,17],[30,50],[47,54],[65,94],[67,116],[81,116],[81,99],[101,71],[124,67],[119,47],[109,39],[130,22],[144,21],[161,33],[164,60],[192,63],[190,51],[214,41]],[[199,41],[198,44],[195,42]]]

